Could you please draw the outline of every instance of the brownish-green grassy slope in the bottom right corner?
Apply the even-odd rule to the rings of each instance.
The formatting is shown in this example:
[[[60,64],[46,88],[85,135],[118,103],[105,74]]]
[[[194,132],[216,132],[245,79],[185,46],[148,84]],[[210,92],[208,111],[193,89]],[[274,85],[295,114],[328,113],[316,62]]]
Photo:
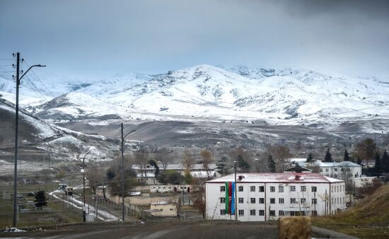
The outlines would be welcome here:
[[[341,214],[313,218],[313,226],[359,238],[389,238],[389,185]]]

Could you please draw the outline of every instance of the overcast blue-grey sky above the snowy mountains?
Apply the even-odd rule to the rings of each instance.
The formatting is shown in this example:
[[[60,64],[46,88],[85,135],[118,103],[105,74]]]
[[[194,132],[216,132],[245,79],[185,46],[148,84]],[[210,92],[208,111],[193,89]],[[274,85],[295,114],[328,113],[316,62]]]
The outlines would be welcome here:
[[[45,77],[240,64],[389,78],[389,1],[0,0],[0,59],[16,51]]]

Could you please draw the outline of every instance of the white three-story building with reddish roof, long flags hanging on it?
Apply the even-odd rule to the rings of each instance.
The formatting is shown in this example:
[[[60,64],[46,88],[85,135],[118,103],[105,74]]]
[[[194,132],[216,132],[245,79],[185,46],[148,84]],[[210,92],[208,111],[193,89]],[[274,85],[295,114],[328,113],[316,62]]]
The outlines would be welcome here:
[[[226,214],[227,175],[206,182],[206,214],[229,220]],[[318,173],[237,173],[238,221],[268,221],[279,216],[335,214],[345,209],[344,181]]]

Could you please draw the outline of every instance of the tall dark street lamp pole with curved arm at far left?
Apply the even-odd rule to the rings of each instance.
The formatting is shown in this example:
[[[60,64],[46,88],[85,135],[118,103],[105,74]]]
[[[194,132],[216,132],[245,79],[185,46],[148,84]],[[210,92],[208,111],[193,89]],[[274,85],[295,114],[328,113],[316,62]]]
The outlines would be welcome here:
[[[15,161],[13,165],[13,226],[16,226],[16,214],[17,214],[17,182],[18,182],[18,122],[19,122],[19,86],[21,85],[21,79],[27,74],[33,67],[45,67],[44,65],[33,65],[28,68],[27,71],[19,78],[19,68],[21,62],[21,54],[16,53],[16,106],[15,106]]]

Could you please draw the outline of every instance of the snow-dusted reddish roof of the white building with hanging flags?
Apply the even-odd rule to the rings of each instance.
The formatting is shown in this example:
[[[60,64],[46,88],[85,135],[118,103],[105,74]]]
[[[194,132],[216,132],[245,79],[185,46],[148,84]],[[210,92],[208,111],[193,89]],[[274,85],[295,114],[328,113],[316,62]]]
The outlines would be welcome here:
[[[239,180],[239,178],[241,180]],[[235,175],[226,175],[219,177],[210,182],[233,182]],[[344,182],[332,177],[326,177],[318,173],[237,173],[237,182]]]

